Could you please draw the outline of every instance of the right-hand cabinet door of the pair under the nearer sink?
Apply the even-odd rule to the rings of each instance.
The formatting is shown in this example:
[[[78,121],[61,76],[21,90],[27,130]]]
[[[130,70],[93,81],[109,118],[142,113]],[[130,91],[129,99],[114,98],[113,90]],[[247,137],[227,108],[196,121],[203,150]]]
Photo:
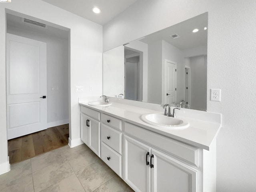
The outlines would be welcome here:
[[[198,170],[157,150],[151,152],[151,192],[198,192]]]

